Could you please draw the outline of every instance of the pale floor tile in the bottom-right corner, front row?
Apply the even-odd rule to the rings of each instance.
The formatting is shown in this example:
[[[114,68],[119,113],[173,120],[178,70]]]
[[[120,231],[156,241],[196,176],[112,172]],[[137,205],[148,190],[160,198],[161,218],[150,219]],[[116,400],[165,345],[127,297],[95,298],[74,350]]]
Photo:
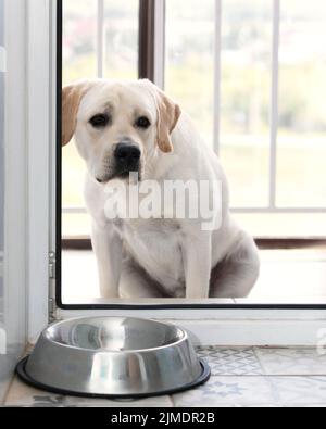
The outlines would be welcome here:
[[[269,382],[283,404],[326,405],[326,377],[271,377]]]

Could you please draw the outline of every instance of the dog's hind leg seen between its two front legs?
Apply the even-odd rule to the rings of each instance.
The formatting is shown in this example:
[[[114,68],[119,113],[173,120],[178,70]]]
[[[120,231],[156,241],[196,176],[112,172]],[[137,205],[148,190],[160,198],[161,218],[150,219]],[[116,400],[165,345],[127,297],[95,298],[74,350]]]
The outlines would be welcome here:
[[[164,298],[155,281],[129,257],[123,261],[118,291],[122,299]]]

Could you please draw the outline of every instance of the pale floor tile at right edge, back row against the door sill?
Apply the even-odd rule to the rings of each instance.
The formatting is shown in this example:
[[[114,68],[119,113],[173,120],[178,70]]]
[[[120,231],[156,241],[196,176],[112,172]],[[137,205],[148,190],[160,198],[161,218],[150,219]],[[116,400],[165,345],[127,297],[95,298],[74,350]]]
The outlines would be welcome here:
[[[315,349],[255,349],[266,375],[326,376],[326,355]]]

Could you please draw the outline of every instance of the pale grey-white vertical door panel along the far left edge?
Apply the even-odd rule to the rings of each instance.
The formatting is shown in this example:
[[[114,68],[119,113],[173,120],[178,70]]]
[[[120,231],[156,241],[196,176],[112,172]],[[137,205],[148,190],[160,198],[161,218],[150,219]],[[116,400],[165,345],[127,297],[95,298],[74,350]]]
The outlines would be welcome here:
[[[0,295],[0,403],[17,359],[24,353],[27,339],[25,3],[24,0],[8,0],[1,10],[4,20],[4,47],[1,49],[1,73],[4,73],[4,97],[1,100],[4,108],[4,182],[1,184],[1,188],[4,188],[4,249],[1,254],[3,264],[0,264],[0,276],[3,277],[3,290]]]

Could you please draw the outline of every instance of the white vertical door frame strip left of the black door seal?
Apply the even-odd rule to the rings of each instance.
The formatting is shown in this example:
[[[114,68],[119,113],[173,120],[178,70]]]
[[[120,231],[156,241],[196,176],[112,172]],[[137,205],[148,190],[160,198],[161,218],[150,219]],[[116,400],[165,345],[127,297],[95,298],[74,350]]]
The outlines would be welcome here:
[[[28,331],[35,339],[48,324],[50,250],[50,148],[52,125],[51,0],[28,0]]]

